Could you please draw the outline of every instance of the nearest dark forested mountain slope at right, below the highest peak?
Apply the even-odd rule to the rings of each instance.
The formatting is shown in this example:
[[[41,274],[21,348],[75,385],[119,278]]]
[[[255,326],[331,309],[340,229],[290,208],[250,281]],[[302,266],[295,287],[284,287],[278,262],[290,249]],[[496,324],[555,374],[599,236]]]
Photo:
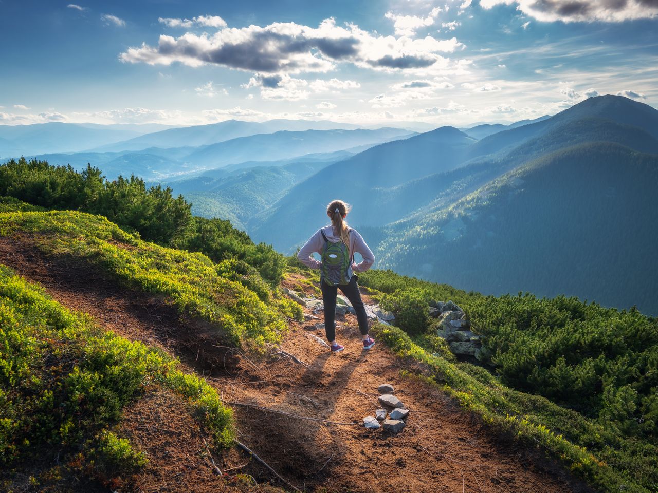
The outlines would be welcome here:
[[[656,154],[603,142],[555,151],[395,231],[378,265],[658,314],[657,183]]]

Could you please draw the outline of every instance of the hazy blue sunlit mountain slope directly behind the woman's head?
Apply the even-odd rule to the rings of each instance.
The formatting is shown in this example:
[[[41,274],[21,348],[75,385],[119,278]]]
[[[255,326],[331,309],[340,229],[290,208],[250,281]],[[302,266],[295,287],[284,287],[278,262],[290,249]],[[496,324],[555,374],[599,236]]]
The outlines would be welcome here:
[[[259,241],[267,238],[275,248],[288,250],[313,233],[318,220],[322,221],[324,206],[337,197],[353,204],[351,220],[361,225],[382,225],[403,218],[416,208],[416,202],[387,204],[387,189],[457,168],[473,142],[456,128],[442,127],[372,147],[297,183],[276,204],[255,216],[247,229]],[[275,222],[280,214],[286,214],[290,221]]]

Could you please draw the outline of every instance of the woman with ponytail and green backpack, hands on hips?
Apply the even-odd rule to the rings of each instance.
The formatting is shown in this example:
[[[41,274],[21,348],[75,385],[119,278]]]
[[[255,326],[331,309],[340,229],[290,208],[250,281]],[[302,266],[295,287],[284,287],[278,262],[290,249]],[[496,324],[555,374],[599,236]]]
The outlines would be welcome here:
[[[363,348],[370,349],[374,346],[374,339],[368,336],[368,317],[366,315],[365,306],[361,301],[361,292],[357,280],[359,277],[353,275],[355,272],[365,272],[372,264],[374,264],[374,255],[363,241],[359,233],[347,227],[345,218],[349,212],[349,206],[342,200],[333,200],[327,206],[327,216],[331,219],[331,225],[322,227],[309,238],[309,241],[301,247],[297,258],[311,269],[320,269],[320,289],[322,289],[322,300],[324,302],[324,329],[326,331],[327,339],[332,352],[339,352],[345,349],[345,346],[336,342],[336,325],[334,317],[336,316],[336,294],[338,288],[345,294],[349,302],[352,304],[359,321],[359,331],[363,337]],[[341,245],[344,245],[344,247]],[[318,252],[323,256],[325,264],[330,262],[330,257],[336,259],[337,255],[331,252],[338,252],[337,247],[342,248],[346,252],[346,264],[342,273],[329,270],[329,266],[325,265],[322,268],[322,262],[318,262],[311,256],[313,252]],[[363,262],[360,264],[354,263],[354,254],[359,252],[363,257]],[[340,253],[338,254],[340,257]],[[338,259],[340,260],[340,259]],[[338,269],[338,267],[336,268]],[[325,279],[330,277],[330,279]]]

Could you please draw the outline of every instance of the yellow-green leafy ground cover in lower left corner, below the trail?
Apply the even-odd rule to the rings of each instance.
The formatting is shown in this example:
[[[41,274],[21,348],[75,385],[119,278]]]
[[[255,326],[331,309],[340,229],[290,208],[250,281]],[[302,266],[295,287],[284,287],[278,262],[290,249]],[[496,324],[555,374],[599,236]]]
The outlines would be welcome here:
[[[143,467],[147,456],[112,429],[126,405],[159,386],[189,403],[216,445],[231,444],[232,411],[205,381],[182,373],[161,350],[104,332],[87,314],[64,308],[0,265],[4,486],[30,459],[43,459],[43,450],[59,450],[61,463],[81,471],[94,464],[117,473]]]

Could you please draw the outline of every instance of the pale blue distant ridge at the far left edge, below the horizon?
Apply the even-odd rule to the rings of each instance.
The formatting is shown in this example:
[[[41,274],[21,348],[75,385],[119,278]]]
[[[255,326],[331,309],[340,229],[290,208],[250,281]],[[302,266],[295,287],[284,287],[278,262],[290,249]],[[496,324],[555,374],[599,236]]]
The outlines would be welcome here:
[[[145,129],[144,131],[148,131]],[[140,135],[136,126],[105,126],[49,122],[0,125],[0,157],[43,153],[72,153]]]

